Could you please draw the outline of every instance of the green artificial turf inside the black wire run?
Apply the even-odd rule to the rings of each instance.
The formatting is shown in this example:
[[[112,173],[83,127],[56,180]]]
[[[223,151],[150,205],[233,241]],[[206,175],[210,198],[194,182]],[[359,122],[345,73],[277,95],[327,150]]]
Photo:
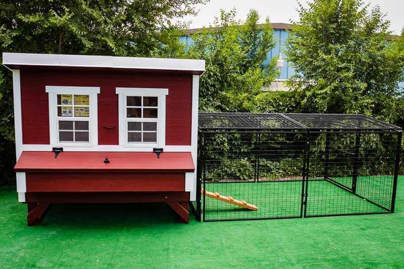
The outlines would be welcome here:
[[[347,183],[345,178],[334,180],[343,185]],[[392,176],[359,177],[357,193],[390,208],[391,182]],[[348,186],[351,187],[351,185]],[[252,211],[206,197],[206,221],[300,217],[301,181],[206,183],[206,190],[244,200],[258,207],[258,211]],[[329,181],[311,180],[309,182],[307,216],[387,211]]]

